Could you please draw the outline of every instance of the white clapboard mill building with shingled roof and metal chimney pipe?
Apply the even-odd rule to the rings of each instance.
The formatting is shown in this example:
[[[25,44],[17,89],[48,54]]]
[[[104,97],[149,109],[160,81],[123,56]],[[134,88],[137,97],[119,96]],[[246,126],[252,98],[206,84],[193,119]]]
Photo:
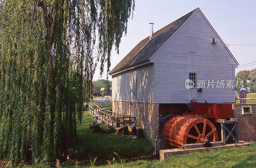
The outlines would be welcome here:
[[[235,102],[238,62],[199,8],[155,33],[150,23],[150,31],[109,74],[113,112],[135,116],[153,142],[161,117],[184,113],[191,99]]]

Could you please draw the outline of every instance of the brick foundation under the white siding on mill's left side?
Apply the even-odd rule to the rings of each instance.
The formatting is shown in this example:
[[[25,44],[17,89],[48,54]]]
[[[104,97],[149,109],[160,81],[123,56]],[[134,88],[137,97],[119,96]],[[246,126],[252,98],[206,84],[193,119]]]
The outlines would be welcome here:
[[[136,125],[141,126],[144,136],[151,142],[159,132],[159,105],[155,103],[113,101],[112,111],[121,115],[131,115],[131,104],[135,106]],[[146,120],[143,120],[146,111]]]

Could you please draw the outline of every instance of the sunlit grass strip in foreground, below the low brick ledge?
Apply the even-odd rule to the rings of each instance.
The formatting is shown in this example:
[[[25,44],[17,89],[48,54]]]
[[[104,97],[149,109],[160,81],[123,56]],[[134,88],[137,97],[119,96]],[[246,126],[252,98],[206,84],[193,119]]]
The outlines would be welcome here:
[[[96,160],[97,162],[97,160]],[[122,165],[114,163],[100,167],[120,168]],[[256,167],[256,145],[242,146],[236,148],[212,150],[209,152],[196,152],[172,156],[164,161],[159,160],[137,160],[127,162],[123,167],[135,168],[212,168],[212,167],[234,167],[248,168]]]

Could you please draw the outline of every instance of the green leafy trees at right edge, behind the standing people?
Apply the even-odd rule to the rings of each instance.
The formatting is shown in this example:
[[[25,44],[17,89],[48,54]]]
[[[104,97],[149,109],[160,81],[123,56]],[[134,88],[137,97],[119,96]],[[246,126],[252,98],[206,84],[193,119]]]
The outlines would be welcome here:
[[[248,93],[256,92],[256,68],[252,70],[241,70],[236,74],[236,82],[243,81],[244,88]],[[241,86],[238,87],[240,90]]]

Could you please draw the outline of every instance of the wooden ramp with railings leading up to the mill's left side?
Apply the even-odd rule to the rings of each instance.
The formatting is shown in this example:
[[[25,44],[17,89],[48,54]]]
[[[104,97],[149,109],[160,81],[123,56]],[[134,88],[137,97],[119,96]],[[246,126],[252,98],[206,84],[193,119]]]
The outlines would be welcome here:
[[[123,128],[124,125],[135,124],[136,117],[121,115],[106,110],[109,106],[112,106],[112,102],[89,106],[89,113],[94,117],[98,117],[101,122],[113,129],[116,129],[117,127]]]

